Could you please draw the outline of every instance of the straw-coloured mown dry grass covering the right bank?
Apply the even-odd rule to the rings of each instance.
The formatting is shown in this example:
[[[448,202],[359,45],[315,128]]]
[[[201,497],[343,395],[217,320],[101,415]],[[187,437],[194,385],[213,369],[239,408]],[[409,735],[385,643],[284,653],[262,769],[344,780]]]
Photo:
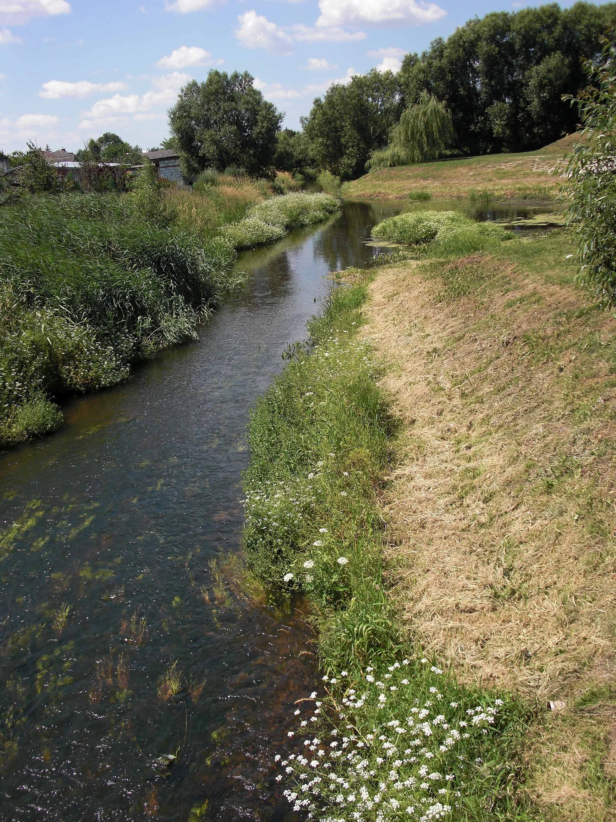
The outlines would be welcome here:
[[[549,818],[608,820],[616,322],[567,252],[554,233],[380,270],[366,330],[406,423],[383,506],[408,630],[462,680],[536,700],[528,790]]]

